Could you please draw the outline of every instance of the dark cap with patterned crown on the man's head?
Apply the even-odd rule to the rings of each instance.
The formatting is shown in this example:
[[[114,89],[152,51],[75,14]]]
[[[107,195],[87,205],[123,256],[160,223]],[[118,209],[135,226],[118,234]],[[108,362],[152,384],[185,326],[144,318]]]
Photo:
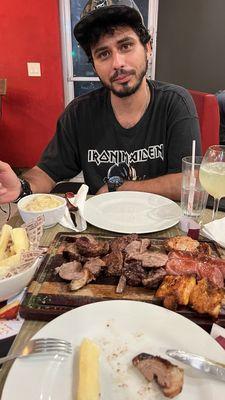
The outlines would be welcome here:
[[[74,27],[75,38],[82,45],[85,33],[94,22],[115,15],[144,25],[143,17],[133,0],[89,0],[81,13],[80,21]]]

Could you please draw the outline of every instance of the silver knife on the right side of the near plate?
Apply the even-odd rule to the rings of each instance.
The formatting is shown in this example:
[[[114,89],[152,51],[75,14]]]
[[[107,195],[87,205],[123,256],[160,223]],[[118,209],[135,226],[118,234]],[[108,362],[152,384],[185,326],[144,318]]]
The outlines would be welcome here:
[[[225,364],[209,360],[198,354],[186,353],[182,350],[167,350],[166,354],[175,358],[175,360],[181,361],[192,368],[225,382]]]

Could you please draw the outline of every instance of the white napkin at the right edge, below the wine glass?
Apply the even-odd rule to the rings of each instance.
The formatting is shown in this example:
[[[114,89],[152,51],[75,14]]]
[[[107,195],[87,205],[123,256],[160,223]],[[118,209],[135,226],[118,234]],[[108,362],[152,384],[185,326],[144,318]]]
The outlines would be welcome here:
[[[201,234],[225,248],[225,217],[205,224]]]

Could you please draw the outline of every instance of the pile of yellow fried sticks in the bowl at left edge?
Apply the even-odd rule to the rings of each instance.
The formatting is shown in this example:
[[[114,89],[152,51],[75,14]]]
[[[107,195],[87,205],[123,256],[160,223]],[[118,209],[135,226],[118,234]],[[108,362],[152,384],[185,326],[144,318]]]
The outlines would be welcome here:
[[[29,250],[30,242],[24,228],[3,225],[0,237],[0,279],[20,264],[22,251]]]

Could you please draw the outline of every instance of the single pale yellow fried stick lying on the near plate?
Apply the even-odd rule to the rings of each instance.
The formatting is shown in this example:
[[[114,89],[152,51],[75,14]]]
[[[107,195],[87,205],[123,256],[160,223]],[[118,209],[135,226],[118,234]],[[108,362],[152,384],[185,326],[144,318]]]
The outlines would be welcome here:
[[[84,339],[79,352],[79,381],[76,400],[99,400],[100,349],[90,339]]]

